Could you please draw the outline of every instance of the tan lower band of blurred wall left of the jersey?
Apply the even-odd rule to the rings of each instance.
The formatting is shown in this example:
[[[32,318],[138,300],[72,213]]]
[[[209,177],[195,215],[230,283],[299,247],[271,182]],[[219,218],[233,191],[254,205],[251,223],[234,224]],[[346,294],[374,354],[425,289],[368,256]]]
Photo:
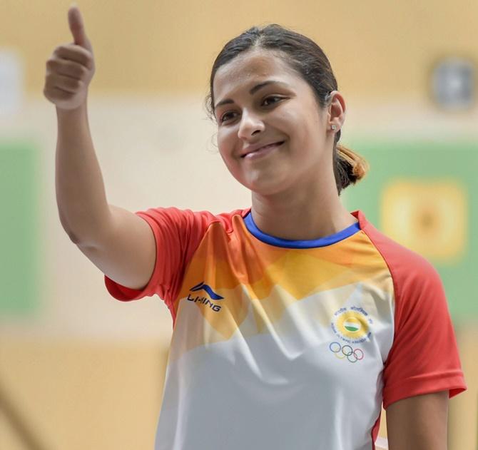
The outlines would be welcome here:
[[[0,342],[0,399],[42,449],[153,449],[166,347],[88,339]],[[0,448],[31,450],[6,414],[0,418]]]

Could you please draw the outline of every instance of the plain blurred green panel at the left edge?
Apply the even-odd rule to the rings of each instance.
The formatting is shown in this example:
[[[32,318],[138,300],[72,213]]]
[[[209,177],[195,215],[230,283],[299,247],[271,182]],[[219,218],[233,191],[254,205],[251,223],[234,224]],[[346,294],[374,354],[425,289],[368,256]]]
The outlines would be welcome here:
[[[0,315],[32,315],[41,303],[39,147],[0,141]]]

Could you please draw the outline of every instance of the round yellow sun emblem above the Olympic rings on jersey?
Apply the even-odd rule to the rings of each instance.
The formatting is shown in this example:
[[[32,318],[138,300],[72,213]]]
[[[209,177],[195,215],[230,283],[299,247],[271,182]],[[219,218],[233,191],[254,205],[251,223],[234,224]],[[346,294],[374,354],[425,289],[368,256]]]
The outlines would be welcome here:
[[[349,344],[370,339],[373,321],[361,307],[344,307],[334,313],[330,326],[335,335]]]

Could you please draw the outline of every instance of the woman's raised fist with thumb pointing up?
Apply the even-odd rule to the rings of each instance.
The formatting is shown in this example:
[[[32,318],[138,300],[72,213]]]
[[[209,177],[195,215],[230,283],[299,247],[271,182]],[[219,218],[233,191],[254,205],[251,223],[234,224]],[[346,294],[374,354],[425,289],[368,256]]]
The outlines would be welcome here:
[[[77,6],[68,9],[68,24],[73,43],[56,47],[46,61],[44,87],[44,96],[64,110],[86,103],[88,85],[95,73],[93,48]]]

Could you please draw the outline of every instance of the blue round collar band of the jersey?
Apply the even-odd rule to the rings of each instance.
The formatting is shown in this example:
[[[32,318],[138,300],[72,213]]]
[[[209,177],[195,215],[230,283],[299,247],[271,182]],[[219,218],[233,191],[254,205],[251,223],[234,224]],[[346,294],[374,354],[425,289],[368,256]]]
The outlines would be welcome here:
[[[311,240],[288,240],[283,239],[281,237],[275,237],[266,234],[265,232],[259,230],[258,226],[255,225],[253,220],[253,215],[248,209],[248,212],[243,217],[245,226],[247,227],[248,231],[258,240],[265,242],[269,245],[274,245],[275,247],[285,247],[285,248],[315,248],[315,247],[327,247],[327,245],[335,244],[336,242],[340,242],[341,240],[347,239],[352,235],[355,235],[356,232],[360,231],[360,218],[357,215],[352,215],[359,219],[357,223],[352,223],[352,225],[348,226],[344,230],[340,230],[339,232],[334,233],[333,235],[320,237],[319,239],[311,239]]]

